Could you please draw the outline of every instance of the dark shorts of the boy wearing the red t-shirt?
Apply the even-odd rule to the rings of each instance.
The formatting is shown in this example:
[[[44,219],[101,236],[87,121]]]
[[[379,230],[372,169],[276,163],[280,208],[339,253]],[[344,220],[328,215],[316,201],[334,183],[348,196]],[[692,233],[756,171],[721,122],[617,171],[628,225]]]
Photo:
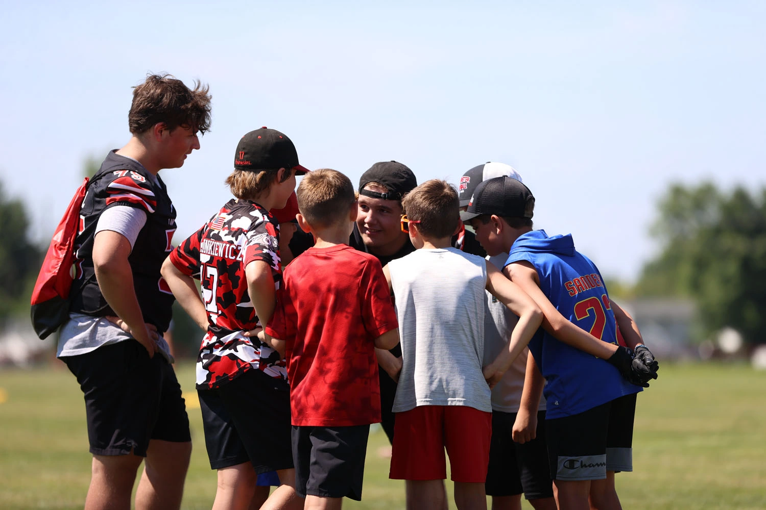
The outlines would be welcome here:
[[[369,425],[296,427],[293,425],[295,489],[300,497],[348,497],[362,501],[362,476]]]

